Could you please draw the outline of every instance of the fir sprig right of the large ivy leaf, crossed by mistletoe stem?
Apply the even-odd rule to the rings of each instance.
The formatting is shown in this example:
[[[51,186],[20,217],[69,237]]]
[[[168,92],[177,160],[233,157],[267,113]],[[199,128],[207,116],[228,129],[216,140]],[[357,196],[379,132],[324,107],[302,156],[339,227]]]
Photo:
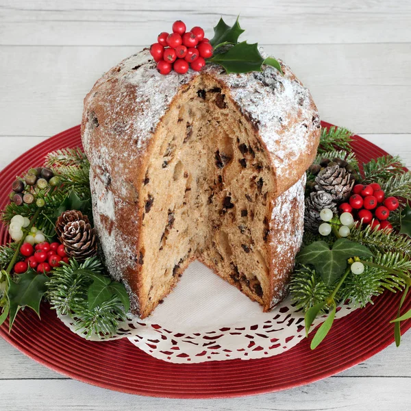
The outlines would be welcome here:
[[[373,262],[395,269],[408,275],[411,261],[401,253],[378,253]],[[354,306],[364,307],[372,303],[372,297],[382,294],[384,290],[397,292],[404,286],[404,282],[397,275],[388,273],[383,269],[366,266],[364,273],[355,275],[349,273],[343,286],[338,292],[339,301],[349,301]]]

